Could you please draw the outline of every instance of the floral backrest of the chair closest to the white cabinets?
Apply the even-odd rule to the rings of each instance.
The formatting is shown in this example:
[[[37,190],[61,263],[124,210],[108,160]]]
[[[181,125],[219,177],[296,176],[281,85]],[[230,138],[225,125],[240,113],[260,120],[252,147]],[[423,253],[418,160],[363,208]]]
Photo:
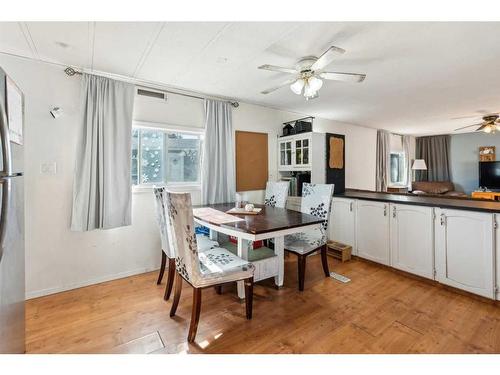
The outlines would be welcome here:
[[[302,203],[300,210],[323,219],[323,229],[328,227],[330,209],[333,198],[333,184],[310,184],[302,185]]]

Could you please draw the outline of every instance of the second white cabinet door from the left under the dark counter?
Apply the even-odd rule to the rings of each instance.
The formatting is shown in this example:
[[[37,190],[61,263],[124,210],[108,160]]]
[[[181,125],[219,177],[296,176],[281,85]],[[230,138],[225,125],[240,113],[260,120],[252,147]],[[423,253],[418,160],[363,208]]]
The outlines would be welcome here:
[[[356,202],[356,247],[358,256],[390,264],[388,203]]]

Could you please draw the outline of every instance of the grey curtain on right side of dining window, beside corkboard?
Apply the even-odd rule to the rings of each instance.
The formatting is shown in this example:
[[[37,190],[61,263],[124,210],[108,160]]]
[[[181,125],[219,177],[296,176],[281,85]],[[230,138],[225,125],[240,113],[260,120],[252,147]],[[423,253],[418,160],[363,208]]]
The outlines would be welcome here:
[[[235,199],[234,145],[231,104],[205,100],[205,141],[201,175],[205,204]]]

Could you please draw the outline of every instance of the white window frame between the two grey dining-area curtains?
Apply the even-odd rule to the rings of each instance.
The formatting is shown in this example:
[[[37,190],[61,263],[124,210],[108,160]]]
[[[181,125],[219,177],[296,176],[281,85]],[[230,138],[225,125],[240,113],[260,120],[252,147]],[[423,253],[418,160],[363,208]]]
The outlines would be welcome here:
[[[195,134],[200,137],[200,170],[199,170],[199,181],[196,183],[191,183],[191,182],[167,182],[167,183],[160,183],[160,182],[151,182],[151,183],[142,183],[142,184],[137,184],[137,185],[132,185],[132,192],[133,193],[140,193],[140,192],[151,192],[153,190],[153,186],[155,185],[164,185],[167,186],[169,189],[172,189],[174,191],[200,191],[201,190],[201,166],[202,166],[202,150],[203,150],[203,142],[204,142],[204,135],[205,135],[205,129],[204,128],[197,128],[194,126],[182,126],[182,125],[174,125],[174,124],[168,124],[168,123],[162,123],[162,122],[149,122],[149,121],[133,121],[132,122],[132,129],[134,128],[139,128],[139,129],[149,129],[149,130],[159,130],[159,131],[164,131],[167,133],[184,133],[184,134]],[[138,155],[140,155],[140,145],[138,145]],[[137,161],[138,163],[140,160]],[[166,167],[166,166],[165,166]]]

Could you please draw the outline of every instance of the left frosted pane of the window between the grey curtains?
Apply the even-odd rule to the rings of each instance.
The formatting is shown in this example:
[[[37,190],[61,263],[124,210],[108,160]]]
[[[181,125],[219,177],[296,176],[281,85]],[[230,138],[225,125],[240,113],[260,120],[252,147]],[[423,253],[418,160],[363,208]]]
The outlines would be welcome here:
[[[164,182],[164,133],[141,129],[141,184]]]

